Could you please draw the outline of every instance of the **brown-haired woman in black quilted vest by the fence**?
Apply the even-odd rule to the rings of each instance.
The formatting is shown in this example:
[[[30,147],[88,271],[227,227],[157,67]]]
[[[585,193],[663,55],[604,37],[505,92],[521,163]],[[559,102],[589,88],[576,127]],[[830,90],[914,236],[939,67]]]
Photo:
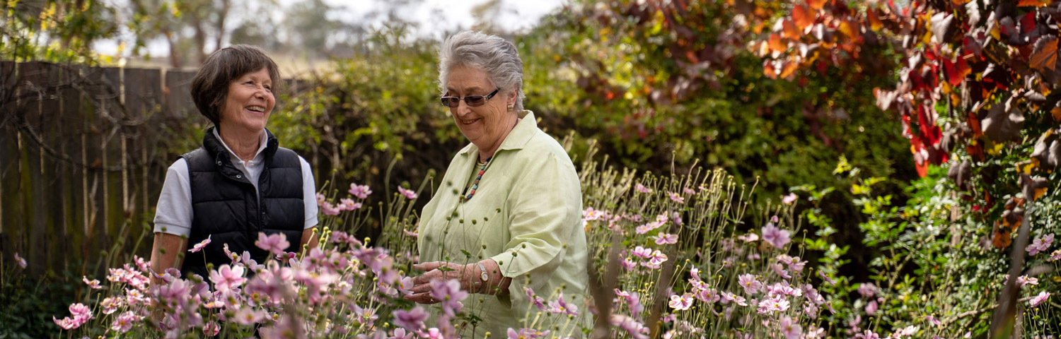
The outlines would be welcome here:
[[[260,232],[283,234],[289,251],[314,239],[317,204],[310,165],[280,147],[265,128],[281,82],[276,63],[246,44],[213,52],[195,74],[192,100],[213,126],[203,147],[180,156],[167,171],[155,214],[155,272],[172,267],[207,278],[208,264],[230,263],[226,245],[262,263],[268,252],[255,246]],[[202,254],[186,255],[181,263],[177,253],[204,242],[209,244]]]

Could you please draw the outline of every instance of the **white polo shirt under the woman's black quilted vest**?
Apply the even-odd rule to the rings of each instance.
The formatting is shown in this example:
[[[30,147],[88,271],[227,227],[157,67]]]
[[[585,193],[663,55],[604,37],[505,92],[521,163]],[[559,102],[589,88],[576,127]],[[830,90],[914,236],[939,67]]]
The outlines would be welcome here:
[[[240,159],[232,151],[232,148],[229,148],[221,139],[216,128],[213,129],[213,136],[228,150],[229,159],[236,168],[247,176],[247,180],[250,180],[250,183],[255,185],[255,192],[258,192],[258,177],[265,168],[265,155],[262,154],[268,141],[265,132],[262,131],[261,146],[250,161]],[[310,171],[310,163],[301,156],[298,157],[298,162],[302,165],[302,203],[306,204],[305,229],[309,229],[317,225],[316,185],[313,183],[313,172]],[[162,193],[158,196],[158,206],[155,209],[155,232],[186,236],[192,233],[192,186],[191,180],[188,178],[188,161],[184,158],[177,159],[166,172]]]

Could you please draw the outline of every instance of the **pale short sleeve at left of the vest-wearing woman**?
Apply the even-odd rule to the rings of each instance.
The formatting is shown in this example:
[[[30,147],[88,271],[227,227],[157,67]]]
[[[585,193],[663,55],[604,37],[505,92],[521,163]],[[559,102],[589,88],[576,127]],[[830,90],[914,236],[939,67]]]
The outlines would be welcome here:
[[[188,236],[192,233],[192,186],[188,162],[177,159],[166,171],[162,192],[155,208],[155,232]]]

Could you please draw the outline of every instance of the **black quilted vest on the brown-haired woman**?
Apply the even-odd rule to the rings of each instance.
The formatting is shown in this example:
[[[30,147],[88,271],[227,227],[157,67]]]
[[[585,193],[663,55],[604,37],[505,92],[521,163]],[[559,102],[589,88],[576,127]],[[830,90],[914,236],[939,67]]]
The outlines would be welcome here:
[[[265,130],[267,144],[265,168],[258,178],[261,206],[255,186],[229,159],[225,145],[207,129],[203,147],[181,156],[188,161],[192,188],[192,233],[188,249],[210,236],[202,252],[185,253],[184,274],[195,273],[208,279],[206,264],[214,269],[231,263],[224,246],[236,254],[249,251],[259,264],[268,255],[255,246],[258,233],[283,233],[296,251],[302,238],[306,206],[302,202],[302,166],[295,151],[279,146],[276,137]],[[205,255],[204,255],[205,254]]]

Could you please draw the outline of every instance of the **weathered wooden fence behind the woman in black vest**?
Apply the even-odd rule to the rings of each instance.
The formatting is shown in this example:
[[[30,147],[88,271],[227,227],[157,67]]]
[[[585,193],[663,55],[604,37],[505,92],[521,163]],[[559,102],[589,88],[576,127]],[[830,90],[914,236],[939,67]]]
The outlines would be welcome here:
[[[3,265],[17,252],[31,275],[80,275],[118,264],[101,263],[102,251],[146,255],[178,156],[168,145],[188,144],[205,121],[189,94],[194,74],[0,61]]]

